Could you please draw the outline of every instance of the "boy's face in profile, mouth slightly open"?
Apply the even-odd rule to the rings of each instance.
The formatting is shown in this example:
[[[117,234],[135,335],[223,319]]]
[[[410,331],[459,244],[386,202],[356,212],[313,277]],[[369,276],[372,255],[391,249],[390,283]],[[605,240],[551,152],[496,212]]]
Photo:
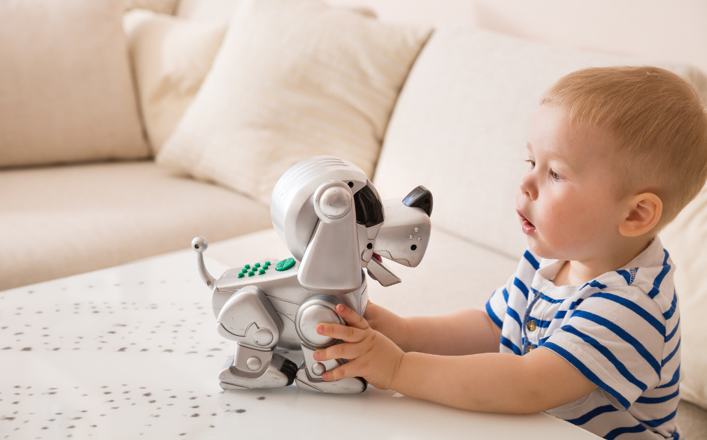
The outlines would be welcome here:
[[[588,261],[621,239],[617,141],[573,124],[562,107],[543,105],[527,143],[529,167],[515,196],[530,250],[542,258]]]

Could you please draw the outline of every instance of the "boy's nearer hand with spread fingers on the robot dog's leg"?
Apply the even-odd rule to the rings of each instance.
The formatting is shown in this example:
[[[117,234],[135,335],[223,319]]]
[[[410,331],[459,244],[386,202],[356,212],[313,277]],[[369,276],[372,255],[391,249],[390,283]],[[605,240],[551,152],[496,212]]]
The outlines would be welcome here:
[[[404,352],[392,340],[368,326],[366,319],[343,304],[337,305],[337,313],[349,324],[320,323],[317,333],[341,339],[344,343],[317,350],[314,358],[349,359],[344,365],[322,375],[325,381],[336,381],[344,377],[363,377],[375,388],[388,389],[397,374]]]

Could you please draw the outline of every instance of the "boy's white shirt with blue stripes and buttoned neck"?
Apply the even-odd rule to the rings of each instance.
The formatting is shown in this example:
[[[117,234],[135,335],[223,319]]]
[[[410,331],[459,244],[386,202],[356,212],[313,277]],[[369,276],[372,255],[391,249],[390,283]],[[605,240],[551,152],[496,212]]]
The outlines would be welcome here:
[[[563,264],[525,251],[493,292],[486,313],[501,328],[501,352],[547,348],[599,387],[551,415],[607,440],[682,439],[675,266],[660,239],[583,286],[552,283]]]

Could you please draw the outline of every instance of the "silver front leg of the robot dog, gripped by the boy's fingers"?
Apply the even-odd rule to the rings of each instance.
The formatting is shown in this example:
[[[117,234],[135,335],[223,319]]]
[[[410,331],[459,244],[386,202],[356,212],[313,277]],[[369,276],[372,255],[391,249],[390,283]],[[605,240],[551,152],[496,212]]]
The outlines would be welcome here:
[[[346,324],[337,314],[337,304],[342,304],[339,298],[332,295],[315,295],[300,306],[295,318],[295,327],[302,340],[302,354],[305,361],[297,371],[297,386],[303,390],[320,391],[322,393],[358,394],[366,391],[367,382],[359,377],[346,377],[338,381],[325,382],[322,374],[344,364],[344,359],[329,359],[318,362],[314,359],[315,350],[330,347],[339,340],[317,333],[319,323],[332,322]]]

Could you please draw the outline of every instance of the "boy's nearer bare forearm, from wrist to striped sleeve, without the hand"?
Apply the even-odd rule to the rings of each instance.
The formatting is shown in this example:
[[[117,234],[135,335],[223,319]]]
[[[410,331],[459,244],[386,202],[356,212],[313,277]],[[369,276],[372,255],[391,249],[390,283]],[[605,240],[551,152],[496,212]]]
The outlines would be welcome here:
[[[531,355],[533,363],[529,362]],[[545,362],[549,363],[547,368],[537,367],[544,362],[541,356],[549,360]],[[564,363],[558,364],[561,373],[552,372],[558,371],[554,362]],[[564,359],[542,349],[522,357],[508,353],[437,356],[408,352],[391,388],[405,396],[464,410],[527,414],[570,403],[596,386]]]

